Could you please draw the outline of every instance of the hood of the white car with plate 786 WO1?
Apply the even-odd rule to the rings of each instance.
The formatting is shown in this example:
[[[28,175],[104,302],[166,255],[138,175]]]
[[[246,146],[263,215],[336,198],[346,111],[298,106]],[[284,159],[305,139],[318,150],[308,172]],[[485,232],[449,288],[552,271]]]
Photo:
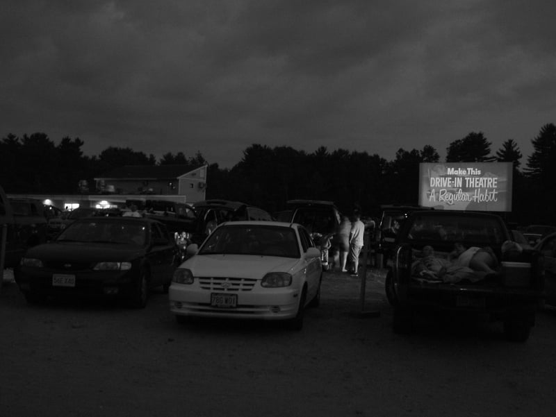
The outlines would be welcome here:
[[[181,265],[195,276],[238,277],[260,280],[268,272],[293,274],[301,259],[261,255],[195,255]]]

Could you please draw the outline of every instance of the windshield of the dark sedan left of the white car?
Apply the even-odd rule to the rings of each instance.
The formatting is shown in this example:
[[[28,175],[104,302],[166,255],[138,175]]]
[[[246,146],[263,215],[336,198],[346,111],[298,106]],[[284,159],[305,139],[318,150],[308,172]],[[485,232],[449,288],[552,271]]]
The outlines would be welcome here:
[[[56,241],[143,246],[147,241],[146,237],[144,223],[76,221],[60,233]]]

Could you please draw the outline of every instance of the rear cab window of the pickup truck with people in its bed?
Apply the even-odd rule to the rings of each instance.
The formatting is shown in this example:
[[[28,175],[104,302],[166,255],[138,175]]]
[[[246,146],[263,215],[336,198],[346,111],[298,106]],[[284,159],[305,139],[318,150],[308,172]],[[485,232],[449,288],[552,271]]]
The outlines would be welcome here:
[[[475,246],[498,246],[508,237],[501,222],[490,216],[417,215],[408,225],[411,241],[452,241]]]

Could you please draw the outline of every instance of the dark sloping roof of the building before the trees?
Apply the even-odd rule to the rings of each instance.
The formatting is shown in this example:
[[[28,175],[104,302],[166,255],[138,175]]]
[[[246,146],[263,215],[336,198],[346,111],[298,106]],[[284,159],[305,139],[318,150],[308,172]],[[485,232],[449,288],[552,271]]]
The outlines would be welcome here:
[[[192,171],[204,167],[191,167],[190,165],[124,165],[104,173],[95,180],[156,180],[174,179],[184,176]]]

